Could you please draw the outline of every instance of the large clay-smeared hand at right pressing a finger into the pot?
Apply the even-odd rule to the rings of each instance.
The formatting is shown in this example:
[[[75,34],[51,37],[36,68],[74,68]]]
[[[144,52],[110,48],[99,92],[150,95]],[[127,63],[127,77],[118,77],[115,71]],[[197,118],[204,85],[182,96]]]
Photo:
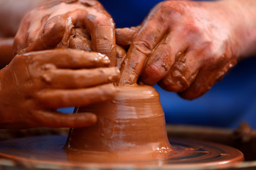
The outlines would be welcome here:
[[[117,44],[130,43],[120,84],[159,83],[188,99],[206,93],[256,40],[233,2],[163,1],[138,28],[118,29]]]

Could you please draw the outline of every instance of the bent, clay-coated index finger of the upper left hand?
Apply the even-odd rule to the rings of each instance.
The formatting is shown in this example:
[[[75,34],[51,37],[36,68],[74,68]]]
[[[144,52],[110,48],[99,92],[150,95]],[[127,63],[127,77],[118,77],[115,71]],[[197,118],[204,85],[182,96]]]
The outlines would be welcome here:
[[[77,10],[69,14],[74,25],[84,22],[84,27],[89,29],[92,39],[92,50],[100,52],[110,58],[110,66],[116,64],[116,43],[114,33],[114,21],[105,11],[99,13],[94,8],[90,12]]]

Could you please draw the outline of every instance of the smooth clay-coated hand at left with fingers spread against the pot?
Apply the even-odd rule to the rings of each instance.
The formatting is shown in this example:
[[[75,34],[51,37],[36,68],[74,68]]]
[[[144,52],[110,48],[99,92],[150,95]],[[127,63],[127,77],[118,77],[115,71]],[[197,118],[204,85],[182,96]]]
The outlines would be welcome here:
[[[16,55],[0,70],[0,128],[73,127],[96,123],[92,113],[57,108],[108,101],[119,69],[98,52],[58,49]],[[106,84],[106,85],[104,85]]]

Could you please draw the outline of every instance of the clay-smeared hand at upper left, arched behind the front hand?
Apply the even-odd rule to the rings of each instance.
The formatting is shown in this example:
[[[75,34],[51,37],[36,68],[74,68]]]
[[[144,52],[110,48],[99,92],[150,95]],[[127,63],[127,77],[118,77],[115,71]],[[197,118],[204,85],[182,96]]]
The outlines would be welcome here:
[[[33,9],[18,28],[14,54],[55,47],[67,48],[70,39],[76,35],[75,30],[79,28],[92,40],[92,50],[107,55],[114,66],[114,21],[95,0],[55,1]]]

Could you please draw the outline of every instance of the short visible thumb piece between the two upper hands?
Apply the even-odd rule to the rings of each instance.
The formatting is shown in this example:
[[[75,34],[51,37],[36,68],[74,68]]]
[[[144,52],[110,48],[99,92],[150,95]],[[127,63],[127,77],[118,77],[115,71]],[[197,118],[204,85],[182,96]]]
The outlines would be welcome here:
[[[142,28],[142,26],[131,27],[131,28],[117,28],[116,29],[116,40],[117,45],[122,47],[127,47],[132,43],[134,36],[138,33],[138,31]]]

